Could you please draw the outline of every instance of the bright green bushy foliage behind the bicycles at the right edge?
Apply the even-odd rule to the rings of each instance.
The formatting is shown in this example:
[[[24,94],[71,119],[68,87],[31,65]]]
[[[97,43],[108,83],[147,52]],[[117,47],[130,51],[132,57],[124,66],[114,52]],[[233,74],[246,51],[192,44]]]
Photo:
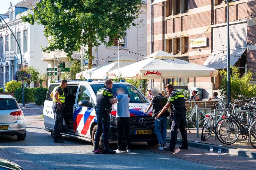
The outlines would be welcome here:
[[[219,73],[223,76],[220,86],[221,96],[227,96],[227,71],[220,71]],[[252,76],[253,72],[251,70],[241,77],[238,68],[231,68],[231,99],[237,99],[238,95],[244,95],[248,98],[256,96],[256,84],[250,83],[250,81],[253,81]]]

